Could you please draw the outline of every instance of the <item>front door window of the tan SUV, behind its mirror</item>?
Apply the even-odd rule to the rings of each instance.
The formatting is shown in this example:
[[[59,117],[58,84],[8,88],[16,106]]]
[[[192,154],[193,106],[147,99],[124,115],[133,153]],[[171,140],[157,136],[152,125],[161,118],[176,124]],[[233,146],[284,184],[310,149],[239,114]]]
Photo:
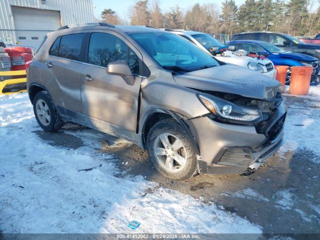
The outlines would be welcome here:
[[[138,56],[120,38],[108,33],[92,33],[88,63],[106,67],[116,60],[125,60],[132,73],[139,74]]]

